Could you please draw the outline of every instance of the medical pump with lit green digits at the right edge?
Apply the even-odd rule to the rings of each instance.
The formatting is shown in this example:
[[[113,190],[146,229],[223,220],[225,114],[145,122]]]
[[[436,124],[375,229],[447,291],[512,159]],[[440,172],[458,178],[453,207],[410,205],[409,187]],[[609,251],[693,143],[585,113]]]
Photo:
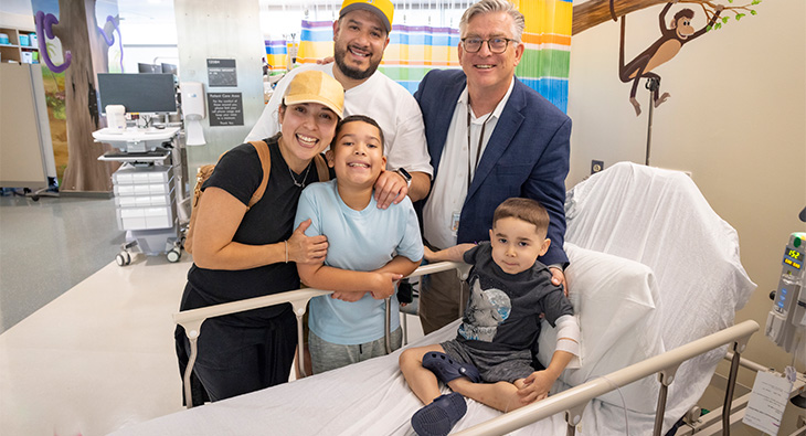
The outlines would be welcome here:
[[[773,308],[767,315],[766,336],[787,353],[804,361],[806,341],[806,233],[789,235],[784,248],[783,268],[775,290]],[[799,343],[799,347],[798,347]]]

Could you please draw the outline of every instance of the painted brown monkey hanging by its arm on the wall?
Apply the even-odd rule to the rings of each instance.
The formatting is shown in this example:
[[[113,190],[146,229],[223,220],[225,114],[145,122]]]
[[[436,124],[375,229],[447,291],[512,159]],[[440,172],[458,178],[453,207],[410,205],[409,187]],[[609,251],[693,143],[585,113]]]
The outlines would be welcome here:
[[[611,15],[613,21],[618,21],[616,11],[613,4],[614,0],[611,0]],[[658,107],[661,103],[666,102],[671,95],[669,93],[660,94],[660,76],[653,71],[675,57],[682,49],[683,44],[687,44],[694,39],[702,36],[719,19],[720,13],[724,7],[718,4],[715,7],[715,13],[711,17],[711,20],[702,29],[694,31],[691,25],[691,20],[694,18],[694,11],[691,9],[682,9],[675,14],[669,26],[666,26],[666,14],[672,4],[677,3],[678,0],[672,0],[666,3],[664,9],[658,15],[660,25],[660,38],[655,41],[649,47],[636,56],[633,61],[629,61],[625,65],[624,63],[624,39],[627,26],[626,15],[622,15],[622,33],[618,49],[618,78],[624,83],[633,83],[629,91],[629,103],[635,109],[635,115],[640,115],[640,104],[635,98],[636,91],[638,89],[638,82],[641,78],[655,79],[655,86],[653,87],[653,104]]]

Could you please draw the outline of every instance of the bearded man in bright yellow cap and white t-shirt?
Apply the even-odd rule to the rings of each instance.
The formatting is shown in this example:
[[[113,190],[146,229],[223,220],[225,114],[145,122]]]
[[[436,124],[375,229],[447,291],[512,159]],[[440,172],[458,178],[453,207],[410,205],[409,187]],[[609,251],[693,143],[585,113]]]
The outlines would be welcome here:
[[[344,87],[344,116],[367,115],[383,129],[388,162],[375,183],[375,201],[381,209],[406,195],[412,201],[425,198],[433,173],[420,106],[403,86],[378,72],[389,45],[393,14],[391,0],[344,0],[333,22],[335,63],[308,64],[288,72],[246,137],[247,141],[259,140],[279,131],[277,109],[295,75],[317,70],[336,77]]]

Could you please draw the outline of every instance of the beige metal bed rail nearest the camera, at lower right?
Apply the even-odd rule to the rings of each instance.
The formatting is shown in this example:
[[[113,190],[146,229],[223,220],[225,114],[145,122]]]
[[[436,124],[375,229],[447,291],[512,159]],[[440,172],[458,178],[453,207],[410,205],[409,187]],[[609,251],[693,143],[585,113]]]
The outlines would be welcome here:
[[[605,376],[591,380],[568,391],[551,395],[545,400],[506,413],[459,432],[457,435],[505,435],[551,415],[564,412],[565,422],[568,423],[566,434],[572,436],[575,434],[576,425],[582,421],[582,413],[591,400],[651,374],[658,374],[658,381],[660,382],[658,407],[655,415],[655,429],[653,433],[654,435],[660,435],[668,387],[674,382],[675,373],[680,364],[693,357],[732,343],[731,351],[733,355],[731,359],[731,371],[722,411],[722,434],[730,435],[730,411],[733,401],[733,386],[736,383],[736,372],[741,359],[740,354],[746,348],[750,337],[756,331],[759,331],[757,322],[752,320],[741,322],[662,354],[612,372]]]

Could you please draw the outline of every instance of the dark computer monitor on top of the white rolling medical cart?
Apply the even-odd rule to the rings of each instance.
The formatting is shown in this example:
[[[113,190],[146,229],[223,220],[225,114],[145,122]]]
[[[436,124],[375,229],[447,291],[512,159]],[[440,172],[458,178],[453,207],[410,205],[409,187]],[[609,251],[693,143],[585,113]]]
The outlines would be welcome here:
[[[98,74],[100,110],[123,105],[127,113],[171,114],[177,111],[173,74]]]

